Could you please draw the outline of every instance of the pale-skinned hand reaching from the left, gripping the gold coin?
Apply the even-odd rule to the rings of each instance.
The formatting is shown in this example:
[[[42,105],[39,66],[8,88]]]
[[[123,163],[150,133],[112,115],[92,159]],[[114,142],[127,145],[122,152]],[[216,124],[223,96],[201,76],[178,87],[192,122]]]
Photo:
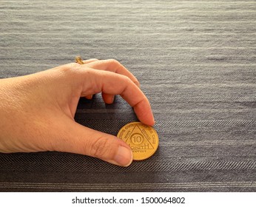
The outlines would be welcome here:
[[[74,121],[79,98],[99,92],[107,104],[121,95],[142,123],[154,125],[135,76],[118,61],[90,59],[0,80],[0,152],[72,152],[129,166],[127,143]]]

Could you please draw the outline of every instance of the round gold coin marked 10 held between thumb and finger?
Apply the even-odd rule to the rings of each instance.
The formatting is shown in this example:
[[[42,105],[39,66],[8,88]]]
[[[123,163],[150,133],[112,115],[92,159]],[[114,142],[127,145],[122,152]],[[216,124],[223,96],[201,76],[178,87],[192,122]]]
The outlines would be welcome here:
[[[123,126],[118,138],[124,140],[132,149],[133,160],[145,160],[158,149],[158,134],[152,126],[132,122]]]

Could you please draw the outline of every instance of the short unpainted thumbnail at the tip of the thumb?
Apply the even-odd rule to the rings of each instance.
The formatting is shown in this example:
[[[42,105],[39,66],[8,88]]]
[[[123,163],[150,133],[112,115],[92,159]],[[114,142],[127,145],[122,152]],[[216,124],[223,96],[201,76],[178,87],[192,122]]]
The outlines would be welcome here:
[[[129,166],[132,163],[132,150],[124,146],[119,146],[118,153],[114,159],[120,166]]]

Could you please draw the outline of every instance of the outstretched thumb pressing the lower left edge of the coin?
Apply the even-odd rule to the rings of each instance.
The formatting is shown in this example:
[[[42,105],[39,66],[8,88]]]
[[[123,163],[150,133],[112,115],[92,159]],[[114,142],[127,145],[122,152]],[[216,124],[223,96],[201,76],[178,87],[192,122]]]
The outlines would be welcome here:
[[[132,150],[123,140],[82,126],[73,120],[65,124],[61,141],[53,141],[55,151],[72,152],[91,157],[98,157],[118,166],[129,166],[132,163]],[[68,127],[67,129],[67,126]]]

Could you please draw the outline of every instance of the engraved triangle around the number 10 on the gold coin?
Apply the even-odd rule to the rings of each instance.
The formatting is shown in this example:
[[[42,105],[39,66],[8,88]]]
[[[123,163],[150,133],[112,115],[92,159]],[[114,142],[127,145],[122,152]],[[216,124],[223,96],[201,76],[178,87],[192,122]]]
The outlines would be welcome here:
[[[131,149],[154,149],[150,141],[148,140],[149,135],[146,131],[141,131],[140,127],[136,125],[131,134],[126,140],[126,143],[131,147]]]

